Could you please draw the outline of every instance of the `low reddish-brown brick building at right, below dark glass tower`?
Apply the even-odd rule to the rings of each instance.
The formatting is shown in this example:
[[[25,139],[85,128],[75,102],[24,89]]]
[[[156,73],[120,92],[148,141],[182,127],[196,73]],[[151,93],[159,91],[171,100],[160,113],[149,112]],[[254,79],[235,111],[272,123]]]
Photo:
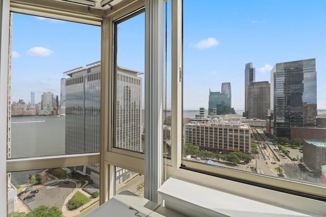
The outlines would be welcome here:
[[[290,139],[295,139],[295,138],[326,141],[326,128],[291,127]]]

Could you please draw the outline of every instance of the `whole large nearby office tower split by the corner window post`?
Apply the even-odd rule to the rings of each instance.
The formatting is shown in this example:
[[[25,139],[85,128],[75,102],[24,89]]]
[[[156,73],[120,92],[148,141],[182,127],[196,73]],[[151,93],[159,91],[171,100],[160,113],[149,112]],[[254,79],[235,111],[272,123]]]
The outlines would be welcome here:
[[[64,73],[66,154],[98,152],[100,144],[100,61]],[[141,72],[117,67],[115,147],[142,150]]]

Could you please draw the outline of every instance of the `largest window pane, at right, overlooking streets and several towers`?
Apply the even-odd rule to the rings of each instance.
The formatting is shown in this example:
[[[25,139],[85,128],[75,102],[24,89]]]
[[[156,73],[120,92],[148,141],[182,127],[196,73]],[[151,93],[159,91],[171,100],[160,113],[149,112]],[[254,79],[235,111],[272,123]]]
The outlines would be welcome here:
[[[183,159],[326,185],[325,3],[205,4],[183,1]]]

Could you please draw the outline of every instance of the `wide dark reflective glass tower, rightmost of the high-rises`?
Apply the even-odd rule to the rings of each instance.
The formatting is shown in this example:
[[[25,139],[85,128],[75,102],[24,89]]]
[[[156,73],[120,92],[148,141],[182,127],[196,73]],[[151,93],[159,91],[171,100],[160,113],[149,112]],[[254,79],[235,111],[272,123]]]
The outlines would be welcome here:
[[[290,127],[316,125],[316,60],[276,64],[274,73],[274,134],[290,138]]]

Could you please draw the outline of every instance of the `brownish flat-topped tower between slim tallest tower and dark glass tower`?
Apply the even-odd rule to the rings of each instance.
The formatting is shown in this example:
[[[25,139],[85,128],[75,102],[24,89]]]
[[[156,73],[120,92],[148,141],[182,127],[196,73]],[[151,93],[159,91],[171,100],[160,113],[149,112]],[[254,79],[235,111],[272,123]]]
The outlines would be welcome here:
[[[248,118],[265,119],[270,109],[268,81],[252,82],[248,87]]]

